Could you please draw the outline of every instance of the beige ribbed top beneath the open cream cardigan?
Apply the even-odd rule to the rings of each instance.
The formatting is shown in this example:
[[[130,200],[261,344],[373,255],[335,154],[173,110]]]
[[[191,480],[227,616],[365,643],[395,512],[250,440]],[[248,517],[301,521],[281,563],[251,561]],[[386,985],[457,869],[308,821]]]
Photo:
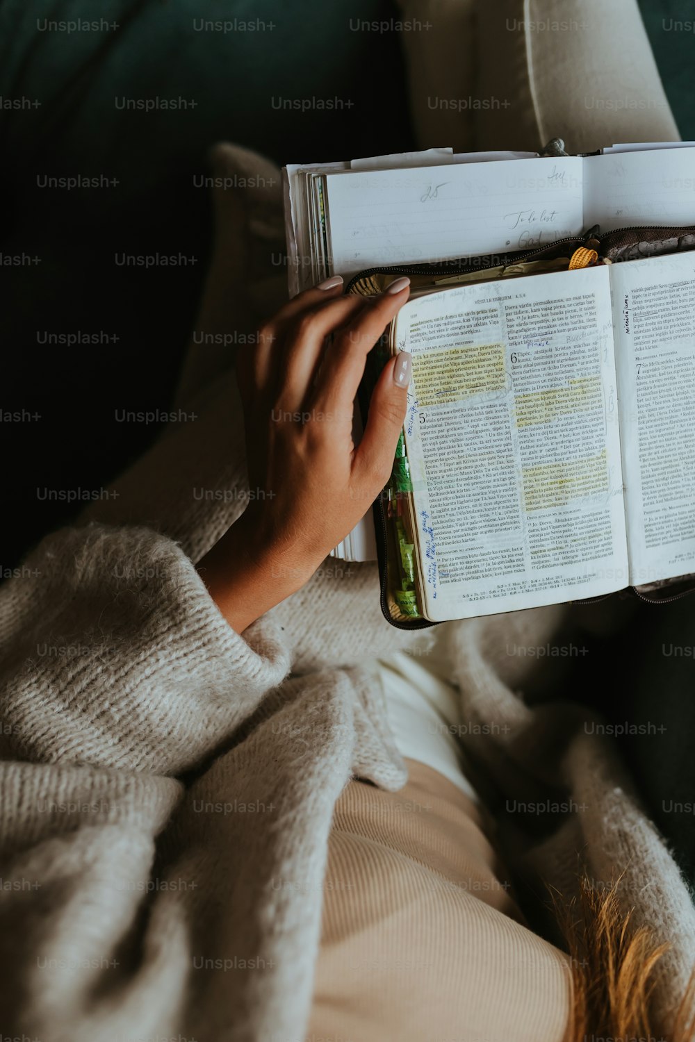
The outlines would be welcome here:
[[[406,763],[399,792],[337,803],[306,1042],[563,1042],[569,958],[521,921],[468,796]]]

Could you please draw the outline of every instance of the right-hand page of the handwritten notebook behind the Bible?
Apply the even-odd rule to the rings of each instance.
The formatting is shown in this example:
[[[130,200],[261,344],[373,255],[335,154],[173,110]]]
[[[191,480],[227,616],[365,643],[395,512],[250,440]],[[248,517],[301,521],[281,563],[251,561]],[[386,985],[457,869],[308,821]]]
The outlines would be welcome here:
[[[587,227],[695,224],[695,148],[611,152],[584,164]]]

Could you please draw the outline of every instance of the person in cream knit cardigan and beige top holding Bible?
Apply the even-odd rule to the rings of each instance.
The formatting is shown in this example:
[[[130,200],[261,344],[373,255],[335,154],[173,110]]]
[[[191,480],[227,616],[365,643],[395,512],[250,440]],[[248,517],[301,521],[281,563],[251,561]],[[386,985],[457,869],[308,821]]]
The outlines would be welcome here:
[[[357,446],[352,401],[407,284],[253,332],[268,199],[216,205],[196,329],[238,334],[238,376],[194,345],[195,419],[0,590],[3,1031],[692,1038],[677,866],[591,713],[517,694],[505,648],[564,610],[405,634],[373,566],[326,560],[391,469],[407,359]]]

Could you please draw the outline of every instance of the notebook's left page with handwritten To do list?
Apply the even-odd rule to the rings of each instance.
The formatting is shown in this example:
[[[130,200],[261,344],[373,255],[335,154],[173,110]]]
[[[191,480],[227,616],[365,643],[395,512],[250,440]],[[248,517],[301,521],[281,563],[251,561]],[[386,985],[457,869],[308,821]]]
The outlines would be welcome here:
[[[584,225],[582,159],[326,174],[331,271],[533,250]]]

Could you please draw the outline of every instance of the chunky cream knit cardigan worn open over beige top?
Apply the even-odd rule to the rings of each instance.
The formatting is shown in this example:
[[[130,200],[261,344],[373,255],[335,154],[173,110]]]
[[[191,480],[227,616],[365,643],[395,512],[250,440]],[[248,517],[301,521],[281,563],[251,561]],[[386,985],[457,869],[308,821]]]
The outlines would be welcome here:
[[[2,1037],[302,1038],[333,805],[352,774],[406,777],[359,663],[431,637],[383,621],[375,566],[327,562],[243,637],[195,570],[246,488],[235,381],[217,368],[189,367],[179,403],[197,419],[0,589]],[[625,907],[673,945],[668,1010],[695,963],[687,887],[587,712],[526,704],[532,660],[506,653],[561,616],[446,627],[462,740],[502,805],[568,804],[500,826],[542,898],[541,878],[571,896],[579,853],[596,879],[625,872]]]

